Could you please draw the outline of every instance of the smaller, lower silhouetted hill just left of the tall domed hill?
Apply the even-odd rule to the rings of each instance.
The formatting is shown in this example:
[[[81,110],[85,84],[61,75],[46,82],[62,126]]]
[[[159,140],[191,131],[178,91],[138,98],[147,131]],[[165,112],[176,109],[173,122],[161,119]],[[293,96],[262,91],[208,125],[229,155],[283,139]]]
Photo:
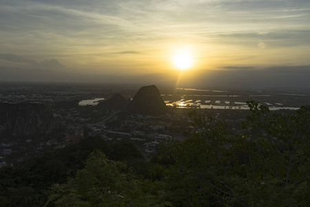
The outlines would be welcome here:
[[[116,95],[113,95],[110,99],[100,101],[96,107],[101,110],[121,110],[125,108],[126,105],[127,100],[119,93],[116,93]]]

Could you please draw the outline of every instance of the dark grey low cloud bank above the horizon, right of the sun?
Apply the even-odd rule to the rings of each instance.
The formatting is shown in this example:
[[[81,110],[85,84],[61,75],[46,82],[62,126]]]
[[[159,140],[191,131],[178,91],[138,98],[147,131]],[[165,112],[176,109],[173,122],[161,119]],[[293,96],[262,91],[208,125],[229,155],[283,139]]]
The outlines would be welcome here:
[[[226,68],[238,68],[227,66]],[[204,70],[180,79],[181,87],[309,88],[310,66],[273,66],[253,70]]]

